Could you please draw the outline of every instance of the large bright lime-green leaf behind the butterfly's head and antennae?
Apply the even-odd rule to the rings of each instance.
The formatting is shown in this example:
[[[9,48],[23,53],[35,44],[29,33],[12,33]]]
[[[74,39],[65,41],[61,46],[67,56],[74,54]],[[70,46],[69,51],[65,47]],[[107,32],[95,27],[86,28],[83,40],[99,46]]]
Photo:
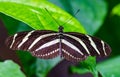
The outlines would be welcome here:
[[[28,0],[23,0],[23,2],[22,0],[0,0],[0,12],[20,20],[34,29],[58,30],[59,24],[62,25],[65,23],[63,25],[65,27],[64,31],[85,33],[84,28],[75,18],[72,18],[68,22],[72,16],[50,2],[45,0],[39,2],[25,1]],[[45,8],[48,9],[51,15]]]

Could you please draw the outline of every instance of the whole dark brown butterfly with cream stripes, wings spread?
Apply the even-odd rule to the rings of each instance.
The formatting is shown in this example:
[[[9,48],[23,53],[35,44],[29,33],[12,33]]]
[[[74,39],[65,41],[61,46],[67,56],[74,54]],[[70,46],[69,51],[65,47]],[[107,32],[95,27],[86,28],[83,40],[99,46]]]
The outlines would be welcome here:
[[[77,32],[59,32],[51,30],[33,30],[19,32],[6,40],[6,45],[13,50],[29,51],[33,56],[51,59],[56,56],[69,61],[81,61],[87,56],[108,56],[110,46],[102,40]]]

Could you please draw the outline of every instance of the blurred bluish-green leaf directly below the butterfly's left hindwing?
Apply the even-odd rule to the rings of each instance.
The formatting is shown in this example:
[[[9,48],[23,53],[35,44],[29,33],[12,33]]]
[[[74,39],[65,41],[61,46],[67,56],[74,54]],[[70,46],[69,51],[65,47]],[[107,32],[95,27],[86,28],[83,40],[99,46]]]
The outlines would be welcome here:
[[[37,77],[47,77],[48,72],[61,61],[60,57],[56,57],[54,59],[37,59],[36,62],[36,74]]]

